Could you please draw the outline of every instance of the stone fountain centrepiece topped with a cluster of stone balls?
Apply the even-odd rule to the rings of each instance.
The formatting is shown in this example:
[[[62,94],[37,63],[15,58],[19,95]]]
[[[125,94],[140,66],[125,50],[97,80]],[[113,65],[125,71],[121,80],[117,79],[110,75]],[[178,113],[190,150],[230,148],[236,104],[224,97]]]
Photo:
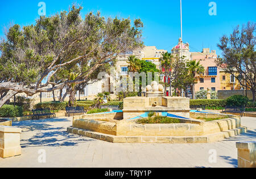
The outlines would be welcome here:
[[[163,90],[163,86],[154,81],[146,87],[145,97],[126,97],[123,100],[123,119],[129,120],[150,111],[189,118],[189,98],[163,96]]]

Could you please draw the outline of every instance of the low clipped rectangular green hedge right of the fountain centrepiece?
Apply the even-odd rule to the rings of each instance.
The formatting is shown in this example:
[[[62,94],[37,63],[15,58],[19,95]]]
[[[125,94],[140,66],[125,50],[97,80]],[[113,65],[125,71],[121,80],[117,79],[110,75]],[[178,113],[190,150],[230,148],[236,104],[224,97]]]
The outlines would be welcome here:
[[[226,106],[226,100],[190,100],[190,105],[203,105],[206,108],[224,108]]]

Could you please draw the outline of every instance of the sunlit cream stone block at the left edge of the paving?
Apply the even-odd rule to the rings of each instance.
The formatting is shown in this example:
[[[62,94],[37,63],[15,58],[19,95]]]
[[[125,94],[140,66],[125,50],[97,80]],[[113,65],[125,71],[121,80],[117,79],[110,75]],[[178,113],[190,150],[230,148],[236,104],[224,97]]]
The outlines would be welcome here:
[[[0,126],[0,157],[21,155],[20,133],[18,127]]]

